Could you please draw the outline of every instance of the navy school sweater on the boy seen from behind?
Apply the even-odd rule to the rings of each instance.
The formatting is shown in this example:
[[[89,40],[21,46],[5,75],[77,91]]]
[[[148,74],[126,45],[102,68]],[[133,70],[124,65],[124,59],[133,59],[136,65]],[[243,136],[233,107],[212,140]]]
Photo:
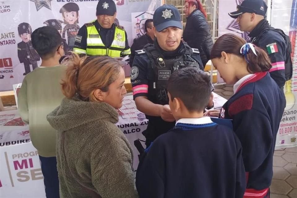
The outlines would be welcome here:
[[[202,119],[202,118],[198,118]],[[242,198],[245,171],[234,132],[213,123],[177,123],[149,147],[136,172],[140,198]]]

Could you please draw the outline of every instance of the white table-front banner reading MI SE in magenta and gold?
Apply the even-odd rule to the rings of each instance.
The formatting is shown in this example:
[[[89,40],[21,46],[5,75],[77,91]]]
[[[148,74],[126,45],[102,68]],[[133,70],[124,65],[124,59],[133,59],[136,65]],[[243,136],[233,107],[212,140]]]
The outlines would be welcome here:
[[[0,197],[45,198],[37,150],[31,142],[0,149]]]

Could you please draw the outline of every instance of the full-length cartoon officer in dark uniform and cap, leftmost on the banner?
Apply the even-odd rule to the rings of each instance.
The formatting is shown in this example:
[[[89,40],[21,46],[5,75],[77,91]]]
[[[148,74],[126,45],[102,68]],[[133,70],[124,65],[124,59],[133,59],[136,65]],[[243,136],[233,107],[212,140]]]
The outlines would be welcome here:
[[[22,39],[22,41],[18,43],[19,62],[24,63],[25,73],[23,73],[23,75],[27,75],[31,72],[30,65],[32,65],[33,70],[37,68],[37,61],[40,60],[40,57],[32,46],[32,28],[30,24],[19,24],[18,32],[19,37]]]

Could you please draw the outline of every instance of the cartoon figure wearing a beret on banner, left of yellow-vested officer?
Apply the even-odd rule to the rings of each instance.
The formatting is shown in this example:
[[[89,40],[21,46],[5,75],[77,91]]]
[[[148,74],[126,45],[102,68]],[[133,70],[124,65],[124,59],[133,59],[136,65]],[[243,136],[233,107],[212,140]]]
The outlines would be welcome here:
[[[70,50],[73,49],[75,37],[80,29],[80,26],[77,25],[79,23],[79,10],[80,8],[76,3],[66,3],[60,9],[60,13],[62,13],[64,19],[64,24],[66,24],[63,30],[62,37],[65,38],[65,32],[67,32],[68,48]]]

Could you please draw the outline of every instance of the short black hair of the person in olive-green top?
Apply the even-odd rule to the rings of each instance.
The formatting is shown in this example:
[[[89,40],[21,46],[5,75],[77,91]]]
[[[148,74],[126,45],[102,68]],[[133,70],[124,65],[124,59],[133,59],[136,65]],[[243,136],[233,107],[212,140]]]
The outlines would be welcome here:
[[[54,56],[58,47],[62,45],[61,34],[53,27],[44,26],[37,28],[31,34],[34,49],[42,59]]]

